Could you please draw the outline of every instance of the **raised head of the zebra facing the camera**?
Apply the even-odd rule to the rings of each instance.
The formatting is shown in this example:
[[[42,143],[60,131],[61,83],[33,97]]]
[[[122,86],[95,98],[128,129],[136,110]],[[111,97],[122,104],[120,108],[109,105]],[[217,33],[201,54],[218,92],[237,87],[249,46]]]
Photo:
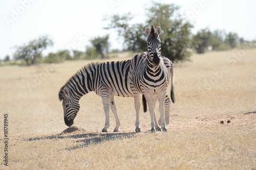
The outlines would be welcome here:
[[[147,36],[147,56],[154,66],[158,66],[161,56],[161,40],[159,35],[161,34],[161,28],[158,26],[156,30],[154,26],[145,28],[145,35]]]

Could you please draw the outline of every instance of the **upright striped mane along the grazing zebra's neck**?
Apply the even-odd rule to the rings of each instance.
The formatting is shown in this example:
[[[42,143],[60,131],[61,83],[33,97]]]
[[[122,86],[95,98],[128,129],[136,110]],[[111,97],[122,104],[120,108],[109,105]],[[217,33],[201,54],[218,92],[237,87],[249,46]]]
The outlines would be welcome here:
[[[84,74],[84,72],[86,72],[86,70],[93,70],[95,69],[96,67],[98,67],[98,65],[100,64],[100,62],[92,62],[92,63],[89,63],[87,65],[84,65],[82,68],[80,68],[76,74],[74,74],[68,81],[65,85],[63,85],[60,90],[59,90],[59,101],[62,101],[64,98],[65,98],[65,93],[63,91],[63,89],[65,87],[69,88],[67,86],[67,84],[70,84],[72,82],[73,79],[75,79],[76,77],[79,77],[80,75]]]

